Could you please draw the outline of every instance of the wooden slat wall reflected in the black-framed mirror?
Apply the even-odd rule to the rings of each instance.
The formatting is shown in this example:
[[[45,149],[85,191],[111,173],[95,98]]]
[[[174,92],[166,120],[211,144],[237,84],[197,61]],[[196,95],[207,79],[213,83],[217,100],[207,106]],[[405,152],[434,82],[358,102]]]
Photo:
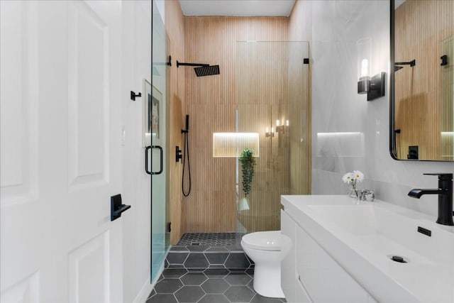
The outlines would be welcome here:
[[[419,159],[441,157],[441,41],[454,34],[454,1],[407,0],[395,11],[397,155],[419,145]],[[424,26],[430,25],[430,26]]]

